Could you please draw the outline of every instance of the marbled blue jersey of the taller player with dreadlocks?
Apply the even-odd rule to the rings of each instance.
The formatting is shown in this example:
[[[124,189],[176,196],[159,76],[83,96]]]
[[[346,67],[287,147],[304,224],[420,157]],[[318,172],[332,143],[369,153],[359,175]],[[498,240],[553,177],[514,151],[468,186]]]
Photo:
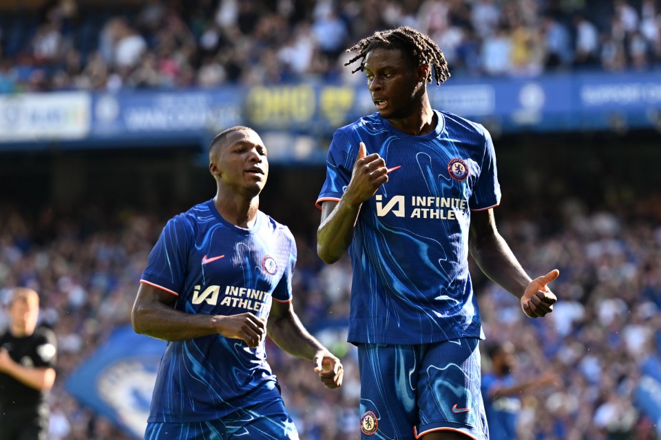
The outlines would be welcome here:
[[[500,202],[494,146],[480,124],[435,113],[438,124],[427,135],[403,133],[379,113],[333,135],[317,206],[342,198],[359,142],[388,168],[400,166],[363,203],[349,246],[350,342],[483,338],[468,273],[468,228],[471,210]]]

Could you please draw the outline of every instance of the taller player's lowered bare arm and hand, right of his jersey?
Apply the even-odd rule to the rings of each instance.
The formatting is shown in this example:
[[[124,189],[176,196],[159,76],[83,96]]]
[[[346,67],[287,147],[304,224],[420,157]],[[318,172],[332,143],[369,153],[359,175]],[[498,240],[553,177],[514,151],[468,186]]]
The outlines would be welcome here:
[[[537,318],[553,311],[557,298],[547,283],[558,278],[560,272],[554,269],[531,279],[496,229],[493,209],[471,212],[468,244],[470,254],[482,272],[519,298],[526,316]]]

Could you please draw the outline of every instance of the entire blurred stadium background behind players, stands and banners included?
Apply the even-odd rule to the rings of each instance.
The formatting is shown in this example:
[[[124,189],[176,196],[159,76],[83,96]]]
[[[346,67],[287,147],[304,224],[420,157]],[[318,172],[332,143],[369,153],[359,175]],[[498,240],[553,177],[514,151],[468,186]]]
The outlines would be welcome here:
[[[660,1],[1,0],[0,327],[9,289],[41,294],[51,440],[143,433],[165,343],[127,327],[138,280],[165,221],[215,194],[207,147],[235,124],[269,148],[297,314],[345,364],[328,391],[269,340],[286,406],[302,439],[359,437],[351,271],[317,258],[314,203],[333,131],[374,111],[344,49],[397,25],[448,58],[432,106],[494,137],[501,234],[529,274],[561,273],[529,320],[472,270],[514,377],[562,378],[521,395],[519,439],[661,437]]]

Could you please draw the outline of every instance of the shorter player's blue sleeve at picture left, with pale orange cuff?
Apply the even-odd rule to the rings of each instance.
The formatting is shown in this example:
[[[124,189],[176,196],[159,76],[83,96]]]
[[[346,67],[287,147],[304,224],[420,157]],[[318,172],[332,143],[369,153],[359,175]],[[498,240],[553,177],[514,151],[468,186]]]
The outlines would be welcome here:
[[[187,274],[193,228],[181,214],[170,219],[149,253],[140,281],[180,294]]]

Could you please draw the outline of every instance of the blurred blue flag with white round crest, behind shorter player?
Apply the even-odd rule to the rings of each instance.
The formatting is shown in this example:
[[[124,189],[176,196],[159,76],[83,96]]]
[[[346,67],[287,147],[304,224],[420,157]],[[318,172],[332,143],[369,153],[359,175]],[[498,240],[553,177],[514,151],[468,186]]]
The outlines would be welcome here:
[[[165,345],[165,341],[138,335],[130,326],[119,327],[67,377],[65,390],[84,406],[142,439]]]

